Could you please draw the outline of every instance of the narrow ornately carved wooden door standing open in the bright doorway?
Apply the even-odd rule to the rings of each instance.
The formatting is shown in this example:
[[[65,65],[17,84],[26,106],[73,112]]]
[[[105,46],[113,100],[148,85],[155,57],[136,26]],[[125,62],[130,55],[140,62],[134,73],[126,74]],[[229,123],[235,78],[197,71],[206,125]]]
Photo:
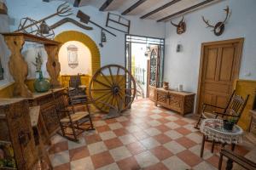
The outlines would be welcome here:
[[[159,87],[160,52],[158,46],[151,46],[148,71],[148,98],[154,101],[154,91]]]

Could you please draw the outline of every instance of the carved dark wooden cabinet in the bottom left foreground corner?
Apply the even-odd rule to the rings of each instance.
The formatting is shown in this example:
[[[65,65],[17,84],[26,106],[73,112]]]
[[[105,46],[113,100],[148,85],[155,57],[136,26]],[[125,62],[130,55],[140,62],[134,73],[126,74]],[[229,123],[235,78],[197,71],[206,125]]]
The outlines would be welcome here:
[[[30,170],[38,161],[26,99],[0,99],[0,149],[3,159],[20,170]],[[16,169],[8,167],[0,169]]]

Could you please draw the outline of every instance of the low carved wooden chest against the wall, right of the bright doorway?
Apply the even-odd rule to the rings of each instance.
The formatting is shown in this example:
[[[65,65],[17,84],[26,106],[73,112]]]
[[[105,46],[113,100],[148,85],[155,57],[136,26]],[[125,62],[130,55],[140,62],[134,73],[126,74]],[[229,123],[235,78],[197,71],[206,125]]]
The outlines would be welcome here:
[[[189,92],[177,92],[157,88],[154,92],[154,105],[161,105],[172,111],[177,111],[183,116],[194,110],[195,94]]]

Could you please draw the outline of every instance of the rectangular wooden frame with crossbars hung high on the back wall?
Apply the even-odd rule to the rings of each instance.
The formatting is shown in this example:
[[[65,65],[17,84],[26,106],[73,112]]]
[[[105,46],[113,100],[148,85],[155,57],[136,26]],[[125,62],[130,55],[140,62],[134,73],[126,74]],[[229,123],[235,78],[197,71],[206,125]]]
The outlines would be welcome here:
[[[109,28],[112,28],[114,30],[125,32],[126,34],[129,34],[131,20],[127,20],[119,14],[108,13],[106,26],[108,26]]]

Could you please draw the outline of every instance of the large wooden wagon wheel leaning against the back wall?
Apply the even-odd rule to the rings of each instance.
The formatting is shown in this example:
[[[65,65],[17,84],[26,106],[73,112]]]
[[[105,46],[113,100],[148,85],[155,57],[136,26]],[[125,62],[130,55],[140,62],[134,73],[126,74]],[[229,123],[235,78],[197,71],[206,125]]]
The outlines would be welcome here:
[[[110,109],[119,113],[125,111],[131,106],[135,94],[136,82],[131,72],[121,65],[103,66],[90,81],[90,99],[102,112],[109,112]]]

